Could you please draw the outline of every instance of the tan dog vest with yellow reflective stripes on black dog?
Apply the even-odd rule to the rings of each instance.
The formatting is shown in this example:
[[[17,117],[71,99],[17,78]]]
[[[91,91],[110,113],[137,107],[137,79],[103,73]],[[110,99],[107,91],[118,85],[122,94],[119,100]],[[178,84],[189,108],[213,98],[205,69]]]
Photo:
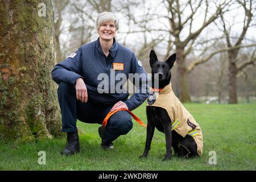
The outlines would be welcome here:
[[[180,100],[172,91],[171,83],[163,88],[162,91],[155,92],[156,100],[154,104],[147,106],[162,107],[171,118],[172,130],[175,130],[183,138],[190,135],[197,144],[197,153],[203,154],[203,134],[201,128],[193,116],[181,104]]]

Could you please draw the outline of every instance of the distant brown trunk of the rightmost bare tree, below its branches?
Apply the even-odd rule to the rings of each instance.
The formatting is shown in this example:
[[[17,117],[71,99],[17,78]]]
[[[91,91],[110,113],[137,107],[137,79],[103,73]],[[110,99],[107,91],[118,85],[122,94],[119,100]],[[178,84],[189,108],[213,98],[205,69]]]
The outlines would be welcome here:
[[[229,104],[237,104],[237,65],[229,60]]]

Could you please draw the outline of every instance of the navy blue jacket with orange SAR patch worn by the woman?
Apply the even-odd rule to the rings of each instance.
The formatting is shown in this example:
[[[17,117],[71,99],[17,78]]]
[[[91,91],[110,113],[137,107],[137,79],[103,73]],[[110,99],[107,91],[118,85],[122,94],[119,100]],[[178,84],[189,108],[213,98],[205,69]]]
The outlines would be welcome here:
[[[60,84],[60,82],[75,84],[76,80],[81,77],[87,88],[88,101],[96,104],[115,104],[118,101],[123,101],[129,110],[133,110],[141,105],[148,96],[149,79],[146,75],[147,73],[135,54],[115,40],[112,48],[109,50],[109,54],[113,59],[107,63],[99,39],[85,44],[76,51],[76,55],[73,54],[73,56],[75,55],[74,57],[68,57],[68,59],[55,65],[52,71],[52,78],[57,84]],[[113,71],[113,63],[123,63],[123,71]],[[146,78],[140,79],[139,88],[127,100],[129,97],[127,92],[110,93],[110,69],[112,69],[115,75],[117,73],[125,73],[126,77],[129,78],[129,73],[142,73],[145,74]],[[106,73],[109,77],[109,93],[99,93],[97,90],[98,85],[102,83],[102,80],[97,79],[100,73]],[[118,84],[119,80],[114,80],[111,80],[112,84]],[[131,80],[133,83],[134,81],[134,79]],[[147,92],[142,93],[143,89],[147,90]]]

